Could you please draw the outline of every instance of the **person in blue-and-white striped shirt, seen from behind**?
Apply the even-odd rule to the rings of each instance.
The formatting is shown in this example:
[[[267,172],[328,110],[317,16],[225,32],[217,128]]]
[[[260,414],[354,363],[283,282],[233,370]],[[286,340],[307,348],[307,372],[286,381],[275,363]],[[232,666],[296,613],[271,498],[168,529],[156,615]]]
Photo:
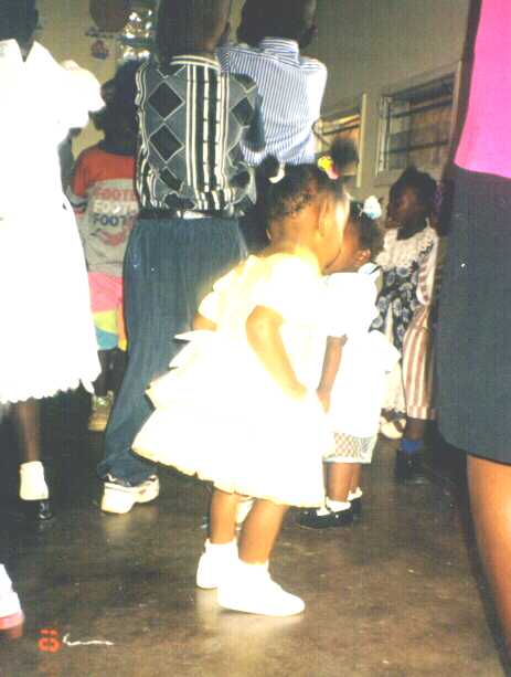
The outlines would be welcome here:
[[[317,0],[246,0],[237,31],[239,44],[220,47],[222,68],[248,75],[262,96],[266,146],[243,147],[246,161],[258,167],[273,156],[281,163],[315,161],[313,125],[327,85],[327,67],[302,56],[317,34]],[[265,194],[267,179],[257,177],[257,207],[242,220],[251,251],[267,244]]]

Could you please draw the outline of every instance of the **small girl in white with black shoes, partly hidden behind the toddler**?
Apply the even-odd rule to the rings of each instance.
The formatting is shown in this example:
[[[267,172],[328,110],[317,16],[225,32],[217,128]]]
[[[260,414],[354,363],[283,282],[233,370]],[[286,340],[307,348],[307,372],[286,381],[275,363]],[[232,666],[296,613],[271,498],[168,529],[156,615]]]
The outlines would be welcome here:
[[[297,522],[302,527],[343,527],[361,512],[362,464],[372,461],[385,373],[398,359],[383,334],[370,331],[377,316],[380,271],[371,262],[383,247],[380,215],[375,198],[351,203],[341,254],[327,271],[330,331],[318,395],[329,412],[334,447],[323,457],[326,506],[301,511]]]

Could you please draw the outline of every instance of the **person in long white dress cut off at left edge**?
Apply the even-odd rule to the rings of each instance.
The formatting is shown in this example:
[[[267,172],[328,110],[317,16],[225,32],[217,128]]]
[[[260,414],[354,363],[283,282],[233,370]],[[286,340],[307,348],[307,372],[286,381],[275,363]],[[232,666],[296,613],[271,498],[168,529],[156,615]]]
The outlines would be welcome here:
[[[85,261],[58,144],[103,107],[99,83],[34,42],[35,0],[0,3],[0,403],[11,404],[20,497],[49,517],[40,400],[99,372]]]

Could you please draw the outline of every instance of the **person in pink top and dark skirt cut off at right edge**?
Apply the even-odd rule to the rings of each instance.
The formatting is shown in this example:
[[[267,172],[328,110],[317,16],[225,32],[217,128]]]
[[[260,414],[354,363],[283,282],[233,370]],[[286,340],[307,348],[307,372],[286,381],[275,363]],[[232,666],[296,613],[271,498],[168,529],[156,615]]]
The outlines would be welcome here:
[[[509,0],[473,2],[467,44],[469,96],[440,295],[439,423],[447,442],[468,452],[478,546],[511,647]]]

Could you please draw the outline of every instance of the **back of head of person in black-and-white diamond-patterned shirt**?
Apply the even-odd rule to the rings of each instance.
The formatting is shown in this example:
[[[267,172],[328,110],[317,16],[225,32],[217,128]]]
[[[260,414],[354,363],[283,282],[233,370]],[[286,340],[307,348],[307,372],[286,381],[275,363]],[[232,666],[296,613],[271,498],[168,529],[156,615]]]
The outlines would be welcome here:
[[[232,0],[161,0],[157,25],[160,61],[214,51],[228,21]]]

